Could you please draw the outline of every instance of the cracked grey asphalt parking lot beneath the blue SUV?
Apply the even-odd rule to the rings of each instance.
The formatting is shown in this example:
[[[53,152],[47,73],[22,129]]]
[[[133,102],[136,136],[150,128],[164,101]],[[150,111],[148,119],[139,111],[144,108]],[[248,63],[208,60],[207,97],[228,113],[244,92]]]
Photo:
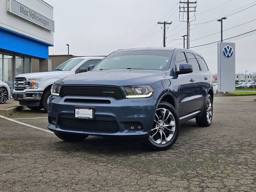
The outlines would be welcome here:
[[[64,142],[43,112],[0,117],[0,191],[256,191],[254,98],[215,97],[212,126],[182,124],[163,152],[118,138]]]

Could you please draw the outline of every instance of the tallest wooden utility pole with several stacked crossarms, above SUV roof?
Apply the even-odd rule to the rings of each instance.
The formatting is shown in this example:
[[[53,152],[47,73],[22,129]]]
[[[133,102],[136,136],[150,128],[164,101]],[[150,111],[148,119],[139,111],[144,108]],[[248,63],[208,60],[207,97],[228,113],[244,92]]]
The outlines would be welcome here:
[[[190,33],[189,33],[190,32],[190,22],[196,20],[196,19],[194,19],[192,21],[189,20],[189,13],[190,12],[194,12],[194,13],[196,12],[196,6],[190,6],[190,4],[196,4],[196,3],[197,3],[196,1],[195,2],[190,2],[189,0],[187,0],[185,2],[180,1],[180,4],[184,4],[184,5],[187,4],[186,7],[184,5],[183,5],[183,7],[180,6],[180,13],[181,12],[183,13],[183,17],[182,17],[182,20],[180,20],[180,22],[186,22],[187,23],[187,49],[189,49],[189,47],[190,47],[190,45],[189,45],[189,41],[190,41]],[[194,8],[194,10],[190,10],[190,8]],[[183,19],[185,12],[187,13],[187,19],[186,20]],[[195,15],[195,18],[196,18],[196,15]]]

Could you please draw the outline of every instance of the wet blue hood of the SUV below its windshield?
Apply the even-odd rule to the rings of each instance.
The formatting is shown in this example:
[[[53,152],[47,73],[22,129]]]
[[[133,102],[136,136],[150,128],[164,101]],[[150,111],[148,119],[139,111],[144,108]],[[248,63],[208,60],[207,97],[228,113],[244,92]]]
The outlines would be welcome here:
[[[57,84],[84,85],[150,85],[166,76],[166,72],[156,70],[95,70],[78,73],[58,80]]]

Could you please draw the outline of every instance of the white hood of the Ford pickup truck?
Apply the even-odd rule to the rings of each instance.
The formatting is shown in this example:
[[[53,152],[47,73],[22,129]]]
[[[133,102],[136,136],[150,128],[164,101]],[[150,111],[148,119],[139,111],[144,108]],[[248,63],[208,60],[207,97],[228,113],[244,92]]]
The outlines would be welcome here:
[[[38,72],[38,73],[25,73],[25,74],[20,74],[16,77],[49,79],[49,78],[64,78],[71,74],[73,74],[73,72],[71,71],[48,71],[48,72]]]

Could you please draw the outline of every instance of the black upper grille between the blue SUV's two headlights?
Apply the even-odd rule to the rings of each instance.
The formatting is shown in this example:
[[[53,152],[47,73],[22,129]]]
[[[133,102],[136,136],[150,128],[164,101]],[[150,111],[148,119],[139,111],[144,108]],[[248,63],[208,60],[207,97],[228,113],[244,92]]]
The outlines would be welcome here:
[[[124,93],[116,86],[62,86],[60,97],[85,96],[85,97],[108,97],[116,100],[124,99]]]

